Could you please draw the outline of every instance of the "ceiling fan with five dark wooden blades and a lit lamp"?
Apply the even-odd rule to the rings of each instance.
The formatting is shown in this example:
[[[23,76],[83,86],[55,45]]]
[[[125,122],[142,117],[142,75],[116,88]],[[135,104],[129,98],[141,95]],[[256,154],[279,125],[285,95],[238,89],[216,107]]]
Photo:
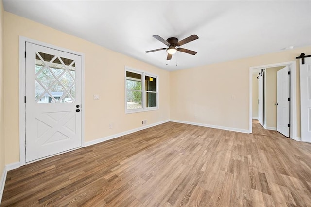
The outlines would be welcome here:
[[[187,37],[181,41],[178,41],[178,39],[176,37],[170,37],[167,40],[164,40],[159,35],[153,35],[153,37],[155,37],[155,39],[159,40],[160,42],[164,43],[166,46],[168,46],[168,48],[159,48],[159,49],[155,49],[155,50],[151,50],[151,51],[146,51],[146,53],[166,50],[166,52],[167,52],[166,60],[171,60],[172,55],[175,54],[177,51],[185,52],[185,53],[192,54],[192,55],[195,55],[197,53],[195,51],[191,51],[191,50],[188,50],[185,48],[176,48],[176,47],[182,46],[188,42],[191,42],[193,40],[198,39],[199,37],[197,35],[191,35],[191,36],[189,36],[189,37]]]

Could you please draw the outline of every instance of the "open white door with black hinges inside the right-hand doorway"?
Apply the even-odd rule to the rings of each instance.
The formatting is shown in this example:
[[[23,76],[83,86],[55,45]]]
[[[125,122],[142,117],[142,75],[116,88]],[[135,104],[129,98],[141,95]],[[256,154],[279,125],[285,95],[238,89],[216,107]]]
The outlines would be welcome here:
[[[276,109],[276,130],[286,137],[290,136],[290,84],[288,66],[277,71],[277,109]]]

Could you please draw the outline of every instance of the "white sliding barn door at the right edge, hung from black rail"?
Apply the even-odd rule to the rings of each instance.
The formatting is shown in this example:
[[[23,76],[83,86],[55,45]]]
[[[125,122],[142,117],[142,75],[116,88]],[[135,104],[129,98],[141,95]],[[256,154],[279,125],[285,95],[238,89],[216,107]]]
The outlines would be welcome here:
[[[311,142],[311,57],[300,59],[301,141]]]

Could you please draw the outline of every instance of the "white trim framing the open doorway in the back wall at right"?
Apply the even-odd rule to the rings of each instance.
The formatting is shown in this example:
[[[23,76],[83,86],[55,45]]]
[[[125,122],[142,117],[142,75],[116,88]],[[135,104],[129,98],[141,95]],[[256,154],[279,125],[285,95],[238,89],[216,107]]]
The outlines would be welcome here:
[[[290,138],[297,140],[297,108],[296,108],[296,61],[284,62],[284,63],[275,63],[261,66],[252,66],[249,67],[249,133],[252,133],[252,113],[253,113],[253,69],[258,68],[271,68],[277,66],[289,66],[291,71],[291,122],[290,122]]]

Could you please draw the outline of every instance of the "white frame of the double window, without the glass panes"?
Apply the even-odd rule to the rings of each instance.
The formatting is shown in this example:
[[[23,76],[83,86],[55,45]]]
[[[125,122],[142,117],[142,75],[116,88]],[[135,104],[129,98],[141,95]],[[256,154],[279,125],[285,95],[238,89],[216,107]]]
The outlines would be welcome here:
[[[141,74],[141,88],[142,88],[142,108],[136,108],[136,109],[127,109],[127,78],[126,78],[126,72],[133,72],[133,73],[137,73],[137,74]],[[156,91],[146,91],[145,88],[145,76],[149,76],[151,78],[155,78],[156,80]],[[143,111],[152,111],[152,110],[158,110],[159,109],[159,76],[149,73],[149,72],[145,72],[145,71],[141,71],[138,69],[133,69],[130,67],[125,66],[125,71],[124,71],[124,97],[125,97],[125,101],[124,101],[124,105],[125,105],[125,114],[130,114],[130,113],[137,113],[137,112],[143,112]],[[146,106],[146,94],[147,92],[155,92],[156,93],[156,106],[155,107],[147,107]]]

